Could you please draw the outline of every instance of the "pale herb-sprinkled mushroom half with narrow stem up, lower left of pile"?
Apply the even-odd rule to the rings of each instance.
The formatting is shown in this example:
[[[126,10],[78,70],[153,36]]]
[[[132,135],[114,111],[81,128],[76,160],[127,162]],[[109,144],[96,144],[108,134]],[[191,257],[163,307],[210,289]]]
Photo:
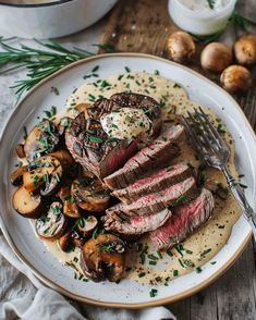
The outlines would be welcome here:
[[[61,202],[52,202],[47,216],[36,220],[36,232],[40,237],[54,241],[62,236],[68,219],[62,213]]]

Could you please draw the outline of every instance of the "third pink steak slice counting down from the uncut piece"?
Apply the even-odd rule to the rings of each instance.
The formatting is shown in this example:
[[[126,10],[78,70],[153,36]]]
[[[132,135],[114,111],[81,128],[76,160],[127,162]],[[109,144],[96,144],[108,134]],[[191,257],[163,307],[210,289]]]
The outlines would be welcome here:
[[[107,209],[107,214],[142,216],[160,212],[170,206],[178,206],[194,199],[198,194],[196,181],[188,177],[169,188],[146,195],[130,205],[118,204]]]

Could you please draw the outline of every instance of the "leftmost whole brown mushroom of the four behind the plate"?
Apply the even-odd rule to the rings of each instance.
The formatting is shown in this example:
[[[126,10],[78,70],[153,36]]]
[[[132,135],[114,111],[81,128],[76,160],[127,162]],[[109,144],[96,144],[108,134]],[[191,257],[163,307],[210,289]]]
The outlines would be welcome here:
[[[187,62],[195,54],[196,46],[191,35],[176,32],[167,40],[167,52],[175,62]]]

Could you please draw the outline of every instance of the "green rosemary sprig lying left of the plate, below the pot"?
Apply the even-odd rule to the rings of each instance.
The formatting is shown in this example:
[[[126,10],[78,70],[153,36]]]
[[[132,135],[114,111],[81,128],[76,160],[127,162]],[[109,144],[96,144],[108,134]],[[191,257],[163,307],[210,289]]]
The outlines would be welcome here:
[[[19,98],[41,79],[61,70],[65,65],[83,58],[94,56],[94,53],[80,48],[66,48],[57,41],[41,42],[35,40],[42,49],[35,49],[24,45],[21,45],[20,48],[15,48],[8,44],[12,39],[13,38],[4,39],[0,37],[0,46],[4,50],[0,52],[0,75],[20,67],[26,67],[28,70],[27,78],[17,81],[12,86],[12,88],[16,89],[15,94],[19,95]],[[114,49],[109,44],[94,46],[106,50],[106,52],[112,52],[110,50]]]

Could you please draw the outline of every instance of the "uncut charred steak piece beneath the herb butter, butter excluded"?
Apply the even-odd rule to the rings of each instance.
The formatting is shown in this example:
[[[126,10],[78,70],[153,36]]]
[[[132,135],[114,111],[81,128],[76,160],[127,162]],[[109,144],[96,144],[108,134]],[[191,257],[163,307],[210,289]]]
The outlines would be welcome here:
[[[158,102],[127,93],[97,100],[87,109],[87,116],[81,112],[65,133],[66,147],[75,161],[99,179],[117,171],[138,150],[139,136],[133,139],[109,137],[100,122],[102,115],[124,107],[142,109],[153,123],[153,136],[159,134],[162,114]]]

